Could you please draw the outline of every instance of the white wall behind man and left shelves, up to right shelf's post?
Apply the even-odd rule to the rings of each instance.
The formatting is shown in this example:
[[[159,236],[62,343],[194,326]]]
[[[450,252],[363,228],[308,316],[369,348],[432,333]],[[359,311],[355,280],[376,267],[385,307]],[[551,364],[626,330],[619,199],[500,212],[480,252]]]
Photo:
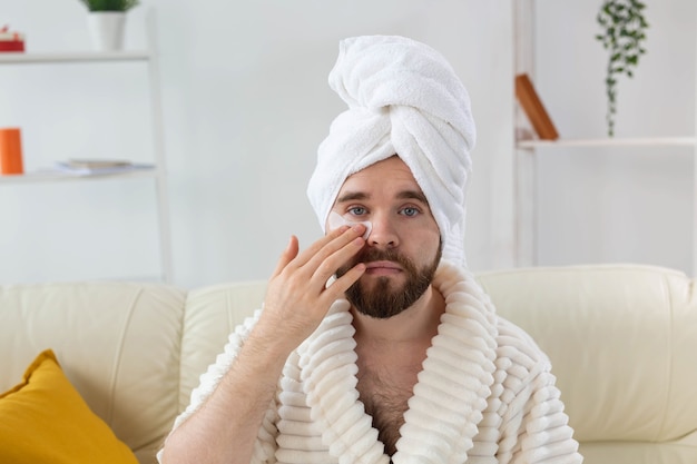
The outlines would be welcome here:
[[[147,8],[158,22],[175,284],[265,278],[291,234],[305,246],[318,237],[305,185],[344,109],[326,78],[338,40],[365,33],[428,42],[465,82],[479,125],[470,264],[510,264],[508,0],[144,0],[129,12],[127,48],[144,46]],[[30,51],[89,48],[78,0],[0,0],[0,22],[27,33]],[[27,170],[66,158],[147,160],[147,80],[138,66],[0,68],[0,127],[22,128]],[[0,282],[157,275],[147,182],[0,189]]]

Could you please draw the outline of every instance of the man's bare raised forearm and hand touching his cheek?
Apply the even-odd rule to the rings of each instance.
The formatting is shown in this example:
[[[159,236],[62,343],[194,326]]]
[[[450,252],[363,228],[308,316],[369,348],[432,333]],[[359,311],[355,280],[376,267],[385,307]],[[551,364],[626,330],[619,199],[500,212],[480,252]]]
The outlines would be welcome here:
[[[248,464],[288,355],[320,325],[334,300],[364,273],[336,269],[359,253],[364,226],[342,227],[298,254],[292,237],[268,283],[264,309],[210,396],[165,443],[163,464]]]

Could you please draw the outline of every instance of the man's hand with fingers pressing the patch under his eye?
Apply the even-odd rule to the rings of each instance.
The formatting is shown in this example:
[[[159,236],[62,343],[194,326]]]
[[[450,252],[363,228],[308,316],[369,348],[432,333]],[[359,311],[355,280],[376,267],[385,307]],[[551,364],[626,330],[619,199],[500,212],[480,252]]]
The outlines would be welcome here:
[[[365,272],[364,264],[356,264],[326,287],[336,269],[363,248],[364,231],[361,224],[340,227],[300,254],[297,237],[292,236],[268,282],[257,335],[263,334],[282,347],[282,352],[289,353],[303,343],[317,328],[332,303]]]

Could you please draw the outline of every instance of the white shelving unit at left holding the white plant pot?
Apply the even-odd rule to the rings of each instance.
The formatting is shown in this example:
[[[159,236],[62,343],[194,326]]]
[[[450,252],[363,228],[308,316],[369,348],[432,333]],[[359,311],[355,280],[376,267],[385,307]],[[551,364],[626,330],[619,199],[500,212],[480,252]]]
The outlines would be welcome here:
[[[4,66],[24,65],[72,65],[89,66],[91,63],[119,62],[143,63],[148,73],[148,90],[150,97],[153,161],[154,167],[107,175],[78,176],[58,171],[38,171],[20,176],[0,176],[0,188],[12,188],[18,185],[50,184],[50,182],[87,182],[87,181],[118,181],[124,179],[143,178],[155,182],[157,203],[157,226],[159,240],[160,280],[170,283],[173,277],[171,267],[171,240],[169,226],[169,199],[167,189],[167,169],[164,146],[164,127],[160,99],[159,66],[155,37],[155,17],[147,18],[147,50],[118,51],[118,52],[69,52],[69,53],[0,53],[0,68]],[[138,277],[140,278],[140,276]]]

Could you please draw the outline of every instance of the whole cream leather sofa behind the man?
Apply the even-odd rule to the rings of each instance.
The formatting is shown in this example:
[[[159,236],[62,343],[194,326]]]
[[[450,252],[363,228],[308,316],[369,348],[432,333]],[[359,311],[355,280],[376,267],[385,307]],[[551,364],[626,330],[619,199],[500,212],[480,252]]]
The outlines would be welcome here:
[[[551,357],[587,464],[697,463],[694,280],[636,265],[478,278]],[[0,287],[0,391],[52,348],[91,409],[154,463],[198,376],[263,295],[262,282]]]

